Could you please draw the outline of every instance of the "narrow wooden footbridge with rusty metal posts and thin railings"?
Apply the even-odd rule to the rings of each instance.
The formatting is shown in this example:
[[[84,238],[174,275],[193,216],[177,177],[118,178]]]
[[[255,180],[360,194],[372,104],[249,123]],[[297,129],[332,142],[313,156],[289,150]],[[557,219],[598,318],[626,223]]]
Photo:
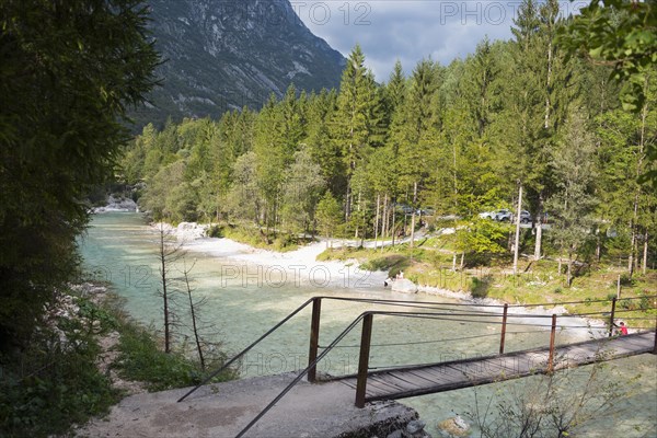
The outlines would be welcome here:
[[[622,309],[616,309],[619,302],[616,298],[613,298],[612,300],[587,300],[532,306],[497,306],[314,297],[306,301],[244,350],[227,361],[223,367],[210,373],[205,381],[186,392],[178,399],[178,402],[184,401],[200,387],[210,382],[214,377],[229,368],[253,347],[309,306],[312,306],[312,315],[310,322],[308,366],[306,369],[298,372],[289,384],[285,387],[285,389],[283,389],[280,393],[237,435],[238,438],[242,437],[269,410],[279,403],[280,400],[303,378],[307,378],[311,383],[332,381],[348,387],[354,391],[355,406],[362,408],[366,403],[369,402],[396,400],[500,382],[532,374],[552,373],[560,369],[596,364],[645,353],[657,355],[657,318],[645,312],[652,307],[657,308],[657,306],[649,304],[650,302],[656,302],[656,299],[657,296],[623,299],[622,302],[624,306]],[[328,345],[320,346],[322,302],[328,300],[369,303],[372,304],[372,307],[381,307],[383,309],[387,307],[399,309],[402,307],[407,309],[407,311],[372,310],[364,312],[351,321],[351,323],[348,324]],[[541,315],[527,312],[527,309],[532,307],[552,308],[555,306],[579,303],[608,303],[609,310],[561,315]],[[523,310],[526,311],[522,312]],[[497,325],[499,331],[497,334],[493,335],[498,338],[498,350],[495,355],[475,355],[469,358],[433,364],[390,366],[384,367],[383,369],[371,367],[370,358],[372,331],[374,328],[373,322],[376,316],[383,315],[388,318],[415,318],[452,323],[458,322],[461,324]],[[588,324],[577,325],[577,323],[573,323],[573,321],[579,321],[579,319],[583,318],[603,320],[607,324],[603,327],[595,328]],[[632,321],[633,325],[638,325],[642,321],[648,321],[648,324],[656,325],[654,330],[646,330],[620,336],[615,333],[616,319]],[[535,320],[539,320],[539,322],[533,322]],[[646,324],[644,323],[643,325]],[[361,330],[360,344],[357,346],[359,348],[358,372],[347,376],[318,376],[318,364],[324,359],[331,350],[338,347],[347,334],[358,326],[360,326]],[[520,330],[514,330],[514,327],[520,327]],[[549,331],[550,337],[549,342],[545,343],[546,345],[532,349],[505,351],[507,344],[506,339],[508,336],[537,333],[537,331],[528,332],[528,327],[538,327],[544,332]],[[585,342],[556,345],[557,328],[560,331],[586,328],[591,333],[591,338]],[[484,336],[461,336],[451,341],[473,337],[483,338]],[[445,341],[446,339],[441,339],[440,342]],[[408,344],[413,343],[408,342]],[[321,385],[319,385],[319,388],[321,388]],[[318,396],[321,397],[321,390],[319,389],[318,391]]]

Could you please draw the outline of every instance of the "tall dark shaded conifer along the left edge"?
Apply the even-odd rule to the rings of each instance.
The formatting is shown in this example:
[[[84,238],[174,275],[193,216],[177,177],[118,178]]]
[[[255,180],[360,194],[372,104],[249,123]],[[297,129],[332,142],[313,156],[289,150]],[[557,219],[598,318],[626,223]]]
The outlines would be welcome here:
[[[81,199],[114,175],[126,108],[155,82],[140,4],[0,3],[0,350],[27,342],[71,278]]]

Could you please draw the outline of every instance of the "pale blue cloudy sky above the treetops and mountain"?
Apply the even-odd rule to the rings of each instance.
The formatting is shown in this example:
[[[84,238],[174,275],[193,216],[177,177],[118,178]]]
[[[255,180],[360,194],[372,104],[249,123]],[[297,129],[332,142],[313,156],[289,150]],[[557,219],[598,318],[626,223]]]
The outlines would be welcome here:
[[[378,81],[396,59],[411,72],[430,57],[442,65],[474,51],[484,36],[509,39],[520,0],[290,0],[303,23],[345,57],[360,44]],[[562,12],[586,0],[562,1]]]

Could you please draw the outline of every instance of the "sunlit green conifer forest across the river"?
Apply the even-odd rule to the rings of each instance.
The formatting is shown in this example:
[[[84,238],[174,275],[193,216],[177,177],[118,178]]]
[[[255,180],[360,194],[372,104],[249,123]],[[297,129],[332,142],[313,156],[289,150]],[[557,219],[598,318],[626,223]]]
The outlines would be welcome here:
[[[523,2],[511,41],[408,77],[397,61],[385,83],[356,46],[338,91],[290,85],[260,112],[146,126],[122,178],[158,220],[355,239],[451,220],[468,254],[509,250],[511,227],[477,214],[516,211],[521,196],[522,251],[622,257],[632,273],[655,253],[657,70],[642,70],[645,99],[624,110],[613,69],[562,47],[566,24],[556,1]]]

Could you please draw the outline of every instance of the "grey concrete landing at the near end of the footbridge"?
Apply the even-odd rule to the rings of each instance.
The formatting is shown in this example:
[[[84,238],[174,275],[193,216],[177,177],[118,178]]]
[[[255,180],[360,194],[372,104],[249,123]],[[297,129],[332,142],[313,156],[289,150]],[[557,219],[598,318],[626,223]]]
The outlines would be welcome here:
[[[295,378],[293,373],[207,385],[181,403],[188,389],[124,399],[106,418],[78,430],[82,437],[234,437]],[[341,382],[298,383],[245,437],[337,437],[365,431],[388,436],[417,413],[385,402],[354,406],[354,390]],[[401,436],[401,435],[400,435]]]

